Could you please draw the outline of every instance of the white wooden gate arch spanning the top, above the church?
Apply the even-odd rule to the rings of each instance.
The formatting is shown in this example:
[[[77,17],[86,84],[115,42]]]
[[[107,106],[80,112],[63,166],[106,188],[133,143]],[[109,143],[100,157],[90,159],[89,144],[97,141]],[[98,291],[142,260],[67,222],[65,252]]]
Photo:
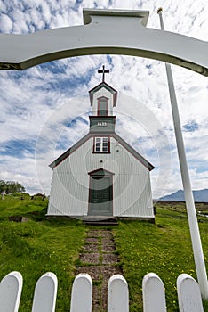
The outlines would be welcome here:
[[[147,11],[84,9],[84,25],[0,35],[0,70],[89,54],[126,54],[170,62],[208,76],[208,42],[147,29]],[[199,53],[200,51],[200,53]]]

